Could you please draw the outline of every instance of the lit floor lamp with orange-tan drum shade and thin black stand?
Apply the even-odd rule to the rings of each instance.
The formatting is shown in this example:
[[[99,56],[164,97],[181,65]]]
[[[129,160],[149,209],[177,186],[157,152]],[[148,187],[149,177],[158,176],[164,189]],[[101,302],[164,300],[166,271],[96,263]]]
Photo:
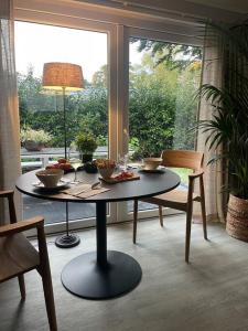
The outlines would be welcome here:
[[[82,67],[76,64],[50,62],[43,67],[42,85],[44,89],[51,89],[63,96],[63,125],[65,159],[67,159],[67,125],[65,95],[84,88]],[[62,248],[74,247],[79,244],[80,238],[68,231],[68,203],[66,202],[66,233],[56,238],[55,245]]]

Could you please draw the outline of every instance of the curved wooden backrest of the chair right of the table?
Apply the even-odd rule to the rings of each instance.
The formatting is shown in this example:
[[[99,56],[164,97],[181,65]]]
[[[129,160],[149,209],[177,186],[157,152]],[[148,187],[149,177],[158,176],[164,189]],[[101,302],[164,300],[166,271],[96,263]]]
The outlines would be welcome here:
[[[187,168],[198,170],[203,166],[202,152],[192,150],[163,150],[162,151],[162,166],[173,168]]]

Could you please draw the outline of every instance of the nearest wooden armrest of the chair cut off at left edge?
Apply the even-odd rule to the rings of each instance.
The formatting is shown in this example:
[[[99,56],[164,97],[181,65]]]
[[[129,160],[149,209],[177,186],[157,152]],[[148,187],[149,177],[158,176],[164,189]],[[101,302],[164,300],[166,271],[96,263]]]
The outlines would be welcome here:
[[[0,237],[13,235],[15,233],[23,232],[33,227],[37,227],[37,228],[43,227],[43,225],[44,225],[44,217],[42,216],[36,216],[18,223],[3,225],[0,226]]]

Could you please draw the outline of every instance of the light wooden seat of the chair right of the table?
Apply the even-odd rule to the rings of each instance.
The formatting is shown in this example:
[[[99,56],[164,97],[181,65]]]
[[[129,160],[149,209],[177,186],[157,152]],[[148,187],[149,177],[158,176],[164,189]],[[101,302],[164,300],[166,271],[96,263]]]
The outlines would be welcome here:
[[[193,200],[197,200],[198,195],[193,193]],[[168,193],[155,195],[152,197],[142,199],[142,201],[154,203],[164,206],[171,206],[171,204],[187,204],[187,191],[173,190]]]

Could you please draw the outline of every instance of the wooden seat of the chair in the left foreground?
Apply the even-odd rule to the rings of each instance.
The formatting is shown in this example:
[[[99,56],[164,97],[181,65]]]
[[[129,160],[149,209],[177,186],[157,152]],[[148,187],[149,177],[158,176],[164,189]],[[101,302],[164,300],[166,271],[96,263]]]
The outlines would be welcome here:
[[[0,282],[39,266],[39,253],[22,233],[0,238]]]

